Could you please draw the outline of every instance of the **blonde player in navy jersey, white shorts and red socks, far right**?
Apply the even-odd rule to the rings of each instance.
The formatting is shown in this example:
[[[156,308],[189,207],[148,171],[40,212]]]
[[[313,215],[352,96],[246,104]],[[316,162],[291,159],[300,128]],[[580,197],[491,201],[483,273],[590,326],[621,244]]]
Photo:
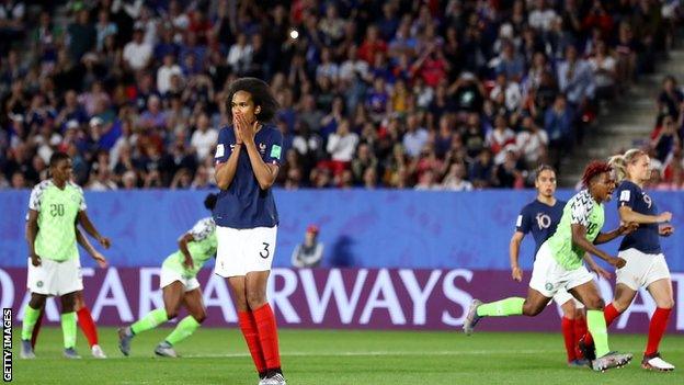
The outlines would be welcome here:
[[[671,236],[674,227],[669,224],[672,213],[658,214],[656,203],[643,191],[643,184],[651,177],[650,162],[649,156],[639,149],[630,149],[609,161],[618,171],[620,181],[616,194],[620,220],[636,222],[640,226],[620,242],[618,257],[627,261],[627,265],[617,271],[615,298],[603,313],[606,325],[609,326],[629,307],[640,287],[648,288],[658,307],[651,317],[641,367],[673,371],[674,365],[660,356],[658,347],[674,306],[670,269],[660,248],[660,237]],[[582,342],[582,348],[591,356],[591,336],[588,335]]]

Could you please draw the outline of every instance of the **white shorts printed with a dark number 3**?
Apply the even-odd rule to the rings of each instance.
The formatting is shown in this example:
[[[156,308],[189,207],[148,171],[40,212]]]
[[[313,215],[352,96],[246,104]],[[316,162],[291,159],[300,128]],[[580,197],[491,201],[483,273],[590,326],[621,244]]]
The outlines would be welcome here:
[[[216,264],[214,273],[223,278],[269,271],[275,253],[277,226],[230,228],[216,226]]]

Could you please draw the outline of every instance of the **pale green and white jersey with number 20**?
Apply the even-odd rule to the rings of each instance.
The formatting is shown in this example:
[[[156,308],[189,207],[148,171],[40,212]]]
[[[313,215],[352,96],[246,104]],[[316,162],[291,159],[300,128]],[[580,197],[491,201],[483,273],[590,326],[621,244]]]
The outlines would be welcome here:
[[[86,210],[83,190],[67,182],[59,190],[52,180],[38,183],[31,191],[29,208],[38,212],[38,234],[35,252],[41,258],[66,261],[78,258],[76,217]]]

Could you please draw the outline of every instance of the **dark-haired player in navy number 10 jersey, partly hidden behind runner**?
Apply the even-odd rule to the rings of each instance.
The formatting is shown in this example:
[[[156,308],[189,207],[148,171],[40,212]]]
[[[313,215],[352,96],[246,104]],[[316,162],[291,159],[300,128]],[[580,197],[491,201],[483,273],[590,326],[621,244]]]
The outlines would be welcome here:
[[[566,202],[558,201],[554,194],[556,193],[556,171],[552,167],[542,165],[536,170],[535,188],[537,189],[537,197],[525,205],[517,216],[515,233],[511,238],[509,254],[511,258],[511,276],[517,282],[523,280],[523,270],[520,268],[520,247],[525,235],[532,233],[536,247],[535,254],[555,231]],[[585,254],[584,260],[590,268],[598,275],[609,278],[609,273],[598,267],[591,256]],[[561,330],[568,354],[569,366],[584,366],[585,360],[578,355],[575,346],[579,339],[586,332],[586,321],[584,319],[584,305],[577,301],[565,288],[559,288],[554,295],[554,301],[560,305],[562,309]]]

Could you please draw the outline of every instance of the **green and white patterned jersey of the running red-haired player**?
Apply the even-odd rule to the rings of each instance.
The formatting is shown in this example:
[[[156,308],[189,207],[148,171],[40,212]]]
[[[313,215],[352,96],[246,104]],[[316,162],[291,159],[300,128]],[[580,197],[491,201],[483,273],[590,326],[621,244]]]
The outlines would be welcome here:
[[[572,244],[572,225],[584,226],[586,239],[593,242],[601,233],[604,220],[603,205],[594,201],[589,190],[582,190],[572,196],[563,207],[556,233],[546,240],[558,264],[568,270],[575,270],[582,265],[584,250]]]

